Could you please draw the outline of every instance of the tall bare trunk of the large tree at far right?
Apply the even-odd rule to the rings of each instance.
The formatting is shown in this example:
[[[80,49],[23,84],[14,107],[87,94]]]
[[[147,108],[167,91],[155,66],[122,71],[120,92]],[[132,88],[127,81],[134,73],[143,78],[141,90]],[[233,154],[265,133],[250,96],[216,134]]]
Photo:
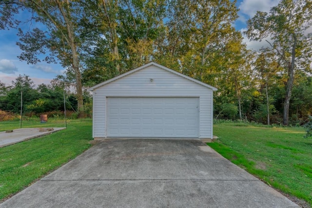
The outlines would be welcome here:
[[[292,85],[294,79],[294,61],[295,61],[295,49],[297,46],[297,37],[295,34],[292,35],[294,42],[292,45],[292,61],[288,63],[288,79],[287,79],[287,86],[286,86],[286,95],[285,95],[285,102],[284,102],[284,118],[283,124],[289,124],[289,105],[292,96]]]

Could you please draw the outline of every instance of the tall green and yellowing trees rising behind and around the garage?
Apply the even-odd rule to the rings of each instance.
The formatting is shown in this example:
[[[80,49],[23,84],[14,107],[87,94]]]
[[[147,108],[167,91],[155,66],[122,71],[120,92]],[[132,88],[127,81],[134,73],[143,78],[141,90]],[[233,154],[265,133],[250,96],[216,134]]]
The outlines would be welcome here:
[[[248,20],[245,35],[270,47],[248,50],[234,28],[232,0],[5,0],[0,29],[19,29],[20,60],[59,61],[74,83],[83,117],[84,87],[155,61],[217,87],[215,115],[302,124],[312,114],[312,2],[281,0]],[[31,28],[31,30],[29,30]],[[42,55],[45,54],[44,57]],[[37,99],[37,98],[36,98]],[[42,98],[43,99],[43,98]]]

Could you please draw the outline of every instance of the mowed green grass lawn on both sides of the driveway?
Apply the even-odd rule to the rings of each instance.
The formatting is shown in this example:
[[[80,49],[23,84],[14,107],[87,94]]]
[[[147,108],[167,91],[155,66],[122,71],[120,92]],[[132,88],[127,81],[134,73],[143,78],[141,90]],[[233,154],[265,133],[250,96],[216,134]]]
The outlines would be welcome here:
[[[18,129],[19,122],[0,122],[0,131]],[[64,127],[64,121],[26,120],[23,128]],[[244,123],[214,126],[219,136],[209,146],[274,188],[312,205],[312,139],[302,128],[266,128]],[[92,120],[68,121],[67,129],[0,148],[0,201],[58,169],[88,149]]]

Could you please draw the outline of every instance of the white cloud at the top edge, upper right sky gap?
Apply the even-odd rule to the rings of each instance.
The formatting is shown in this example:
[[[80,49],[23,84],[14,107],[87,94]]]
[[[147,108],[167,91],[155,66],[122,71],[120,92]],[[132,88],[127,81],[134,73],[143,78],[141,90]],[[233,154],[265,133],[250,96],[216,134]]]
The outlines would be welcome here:
[[[253,18],[257,11],[269,12],[278,2],[279,0],[243,0],[238,8],[241,13]]]

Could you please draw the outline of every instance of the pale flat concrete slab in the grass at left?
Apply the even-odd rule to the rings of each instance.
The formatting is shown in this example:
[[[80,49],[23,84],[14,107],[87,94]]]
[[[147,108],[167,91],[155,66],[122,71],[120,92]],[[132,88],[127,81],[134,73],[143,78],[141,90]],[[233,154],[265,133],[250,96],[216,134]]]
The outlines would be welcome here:
[[[51,128],[49,128],[51,129]],[[53,128],[51,131],[42,131],[42,128],[24,128],[15,129],[13,132],[0,132],[0,148],[22,142],[28,139],[33,139],[39,136],[60,131],[65,128]]]

